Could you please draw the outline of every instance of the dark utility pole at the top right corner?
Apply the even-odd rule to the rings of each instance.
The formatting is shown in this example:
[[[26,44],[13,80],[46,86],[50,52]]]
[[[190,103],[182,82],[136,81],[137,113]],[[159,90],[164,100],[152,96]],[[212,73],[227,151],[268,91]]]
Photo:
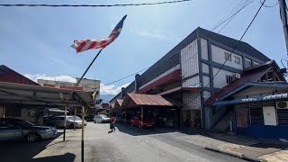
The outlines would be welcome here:
[[[283,23],[284,37],[286,42],[286,52],[288,55],[288,27],[287,27],[287,13],[286,13],[286,2],[285,0],[279,0],[280,16]],[[287,62],[288,67],[288,62]]]

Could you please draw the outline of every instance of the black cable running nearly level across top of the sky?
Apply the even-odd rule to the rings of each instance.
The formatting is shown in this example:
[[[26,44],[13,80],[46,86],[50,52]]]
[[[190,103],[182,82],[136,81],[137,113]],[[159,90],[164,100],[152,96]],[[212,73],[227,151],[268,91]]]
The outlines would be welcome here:
[[[116,7],[116,6],[139,6],[139,5],[156,5],[156,4],[175,4],[193,0],[175,0],[157,3],[140,3],[140,4],[0,4],[4,7],[26,6],[26,7]]]

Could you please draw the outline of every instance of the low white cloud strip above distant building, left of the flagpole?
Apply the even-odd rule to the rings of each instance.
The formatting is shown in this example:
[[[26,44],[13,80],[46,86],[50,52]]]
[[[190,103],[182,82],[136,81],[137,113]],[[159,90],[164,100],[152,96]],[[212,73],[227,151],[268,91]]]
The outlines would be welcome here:
[[[47,76],[45,74],[36,74],[36,75],[31,75],[31,74],[25,74],[24,76],[30,78],[34,82],[37,82],[37,79],[45,79],[45,80],[57,80],[57,81],[62,81],[62,82],[76,82],[76,78],[72,76]]]

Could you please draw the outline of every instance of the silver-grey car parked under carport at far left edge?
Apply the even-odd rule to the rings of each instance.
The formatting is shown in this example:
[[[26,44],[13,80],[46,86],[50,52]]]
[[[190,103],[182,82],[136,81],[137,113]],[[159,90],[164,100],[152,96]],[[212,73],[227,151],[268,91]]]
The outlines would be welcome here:
[[[27,140],[53,138],[58,131],[53,127],[37,126],[29,121],[14,118],[0,118],[0,140]]]

